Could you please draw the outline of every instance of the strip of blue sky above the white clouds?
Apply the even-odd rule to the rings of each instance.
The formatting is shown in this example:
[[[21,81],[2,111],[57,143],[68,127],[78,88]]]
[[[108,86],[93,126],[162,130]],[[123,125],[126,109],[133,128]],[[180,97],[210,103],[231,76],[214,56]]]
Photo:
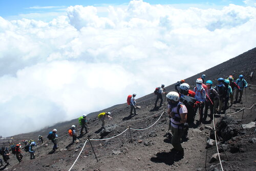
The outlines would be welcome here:
[[[36,20],[44,20],[49,21],[56,16],[65,15],[66,8],[69,6],[82,5],[82,6],[118,6],[118,5],[127,5],[130,1],[127,0],[95,0],[95,1],[68,1],[68,0],[46,0],[46,1],[33,1],[33,0],[0,0],[0,16],[8,19],[21,19],[31,17]],[[201,7],[201,8],[222,8],[223,6],[227,6],[229,4],[235,5],[245,5],[243,1],[179,1],[179,0],[144,0],[144,2],[150,3],[151,5],[155,4],[171,4],[178,8],[187,8],[187,7]],[[44,8],[45,7],[45,8]],[[48,13],[48,15],[39,16],[39,14]],[[27,14],[35,14],[35,15],[27,15]]]

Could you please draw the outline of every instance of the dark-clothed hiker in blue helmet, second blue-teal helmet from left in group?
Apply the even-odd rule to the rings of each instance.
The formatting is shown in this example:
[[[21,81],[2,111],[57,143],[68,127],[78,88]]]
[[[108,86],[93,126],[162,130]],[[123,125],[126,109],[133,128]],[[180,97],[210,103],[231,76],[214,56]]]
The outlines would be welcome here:
[[[227,88],[224,85],[223,78],[218,79],[218,84],[215,87],[215,90],[218,92],[219,95],[218,95],[218,99],[215,100],[215,102],[214,102],[214,110],[215,110],[214,113],[221,114],[221,110],[222,110],[222,107],[223,107],[223,104],[225,102],[226,95],[227,95]],[[219,106],[219,110],[217,112],[218,106]]]

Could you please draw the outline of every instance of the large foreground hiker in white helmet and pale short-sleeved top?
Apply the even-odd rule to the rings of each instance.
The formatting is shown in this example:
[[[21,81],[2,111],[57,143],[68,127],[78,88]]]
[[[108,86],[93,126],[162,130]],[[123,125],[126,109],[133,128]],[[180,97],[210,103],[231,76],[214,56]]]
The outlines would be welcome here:
[[[167,95],[168,114],[172,130],[172,144],[177,156],[184,156],[184,149],[181,146],[181,137],[184,134],[183,126],[187,119],[187,108],[179,101],[179,93],[169,92]]]

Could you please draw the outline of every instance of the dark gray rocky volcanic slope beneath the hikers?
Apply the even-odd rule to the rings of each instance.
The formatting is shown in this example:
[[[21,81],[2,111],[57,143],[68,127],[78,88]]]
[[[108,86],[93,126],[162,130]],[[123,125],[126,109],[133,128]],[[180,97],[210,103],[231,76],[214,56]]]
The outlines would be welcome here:
[[[255,76],[252,80],[249,78],[250,72],[255,72],[255,59],[256,48],[253,48],[236,58],[232,58],[185,80],[189,85],[194,85],[196,79],[202,74],[207,76],[207,80],[214,80],[219,77],[227,78],[229,75],[238,78],[240,74],[243,74],[249,84],[256,85]],[[255,103],[256,86],[251,85],[246,89],[247,101],[245,102],[244,93],[243,103],[233,105],[231,109],[227,110],[227,114],[238,111],[239,109],[242,109],[243,106],[249,108]],[[172,89],[174,89],[174,85],[166,87],[167,91]],[[140,102],[139,105],[141,106],[141,109],[138,109],[138,115],[135,115],[132,118],[127,117],[129,116],[130,107],[126,104],[116,105],[109,108],[108,110],[113,111],[113,119],[106,120],[106,125],[114,126],[122,122],[124,123],[114,127],[112,132],[102,137],[100,134],[97,134],[97,131],[101,127],[101,123],[93,117],[99,112],[92,114],[88,135],[90,135],[91,138],[95,137],[96,139],[109,138],[120,134],[127,128],[127,126],[134,129],[147,128],[157,121],[162,110],[164,110],[167,105],[165,102],[165,105],[158,111],[151,111],[155,102],[153,93],[141,97],[137,102]],[[255,107],[253,107],[252,110],[245,110],[244,118],[242,120],[243,112],[230,115],[230,117],[238,120],[240,126],[241,124],[248,124],[251,121],[254,121],[255,111]],[[131,121],[145,117],[148,118]],[[196,120],[197,119],[198,115],[196,116]],[[207,118],[207,120],[208,119],[209,118]],[[216,118],[216,121],[219,119],[221,119],[221,117]],[[127,126],[125,122],[126,120],[129,120]],[[36,159],[29,160],[28,152],[23,152],[25,157],[24,161],[21,163],[18,163],[16,157],[11,154],[11,165],[4,167],[5,170],[69,170],[87,139],[87,135],[84,135],[79,138],[78,143],[69,146],[72,138],[67,135],[67,130],[72,124],[79,128],[77,119],[74,119],[65,123],[59,123],[54,127],[44,129],[40,132],[13,136],[15,143],[20,142],[22,139],[30,139],[30,137],[36,139],[38,134],[43,135],[46,140],[48,132],[53,128],[56,128],[58,130],[60,148],[54,154],[49,155],[48,152],[51,151],[53,144],[51,142],[48,143],[48,146],[46,146],[45,143],[39,144],[35,153]],[[220,164],[218,164],[219,160],[209,163],[210,157],[217,153],[217,149],[216,146],[212,146],[208,150],[205,149],[206,139],[210,136],[210,130],[205,128],[205,126],[213,127],[213,124],[204,123],[201,126],[195,125],[194,128],[189,129],[188,139],[182,143],[185,150],[185,155],[182,159],[174,158],[172,152],[170,152],[172,144],[170,144],[168,138],[164,137],[168,132],[168,120],[166,122],[165,115],[162,115],[156,125],[150,129],[142,131],[132,130],[132,142],[130,142],[129,130],[110,140],[92,141],[99,162],[96,161],[90,143],[87,143],[72,170],[205,170],[205,160],[206,170],[220,170]],[[227,145],[237,144],[240,146],[240,151],[237,153],[230,153],[230,149],[227,149],[228,160],[224,153],[221,153],[224,170],[255,170],[256,162],[254,160],[256,159],[256,142],[251,142],[251,138],[256,138],[254,128],[243,130],[243,133],[225,143]],[[3,169],[3,167],[0,167],[0,170],[1,169]]]

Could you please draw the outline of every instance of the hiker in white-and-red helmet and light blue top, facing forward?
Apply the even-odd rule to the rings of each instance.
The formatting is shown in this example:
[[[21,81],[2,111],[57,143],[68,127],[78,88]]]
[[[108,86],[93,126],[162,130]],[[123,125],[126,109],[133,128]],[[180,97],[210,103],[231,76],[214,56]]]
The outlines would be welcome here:
[[[202,86],[203,80],[199,78],[197,79],[196,83],[197,83],[197,86],[194,88],[194,91],[196,93],[195,99],[197,100],[195,112],[197,113],[197,109],[199,108],[199,114],[200,114],[199,124],[201,124],[203,119],[203,109],[204,109],[206,93],[205,93],[205,89]]]

